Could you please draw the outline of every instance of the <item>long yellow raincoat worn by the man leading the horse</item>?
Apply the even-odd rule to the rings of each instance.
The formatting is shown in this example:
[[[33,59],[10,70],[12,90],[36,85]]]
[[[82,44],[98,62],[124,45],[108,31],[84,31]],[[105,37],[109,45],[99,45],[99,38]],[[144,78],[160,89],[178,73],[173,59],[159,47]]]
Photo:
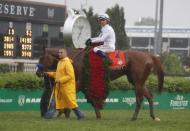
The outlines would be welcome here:
[[[54,88],[56,109],[77,108],[75,74],[71,60],[68,57],[59,60],[56,72],[47,74],[55,78],[55,81],[60,81]]]

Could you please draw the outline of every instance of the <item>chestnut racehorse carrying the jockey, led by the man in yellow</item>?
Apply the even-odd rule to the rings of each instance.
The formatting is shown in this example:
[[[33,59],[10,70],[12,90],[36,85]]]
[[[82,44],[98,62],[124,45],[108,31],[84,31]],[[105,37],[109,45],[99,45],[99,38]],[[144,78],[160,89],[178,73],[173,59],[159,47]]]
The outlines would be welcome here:
[[[73,66],[75,70],[75,76],[77,81],[77,91],[82,90],[82,77],[84,68],[84,56],[87,52],[85,49],[66,49],[68,57],[73,60]],[[38,76],[43,76],[44,71],[56,70],[57,59],[56,48],[47,48],[45,53],[40,57],[39,63],[43,64],[43,68],[38,68],[36,74]],[[126,66],[118,70],[112,70],[110,68],[110,80],[115,80],[116,78],[127,75],[128,81],[135,88],[136,95],[136,107],[135,112],[131,120],[136,120],[141,108],[143,97],[145,96],[149,102],[150,116],[153,120],[159,120],[155,117],[153,110],[153,96],[151,92],[145,87],[145,82],[148,76],[153,72],[158,78],[158,91],[161,92],[163,89],[164,82],[164,72],[159,58],[148,53],[140,51],[125,51],[125,59],[127,61]],[[96,101],[91,104],[94,105]],[[101,118],[100,109],[93,106],[96,113],[96,118]]]

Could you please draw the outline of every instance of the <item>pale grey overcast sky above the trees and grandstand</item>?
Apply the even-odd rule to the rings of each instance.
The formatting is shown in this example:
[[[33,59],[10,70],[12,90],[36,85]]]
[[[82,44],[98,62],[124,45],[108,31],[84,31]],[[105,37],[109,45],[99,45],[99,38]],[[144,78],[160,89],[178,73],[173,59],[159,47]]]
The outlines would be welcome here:
[[[80,9],[92,6],[94,13],[103,13],[115,4],[124,8],[126,25],[132,26],[140,17],[155,18],[156,0],[33,0],[66,5]],[[163,25],[190,28],[190,0],[164,0]]]

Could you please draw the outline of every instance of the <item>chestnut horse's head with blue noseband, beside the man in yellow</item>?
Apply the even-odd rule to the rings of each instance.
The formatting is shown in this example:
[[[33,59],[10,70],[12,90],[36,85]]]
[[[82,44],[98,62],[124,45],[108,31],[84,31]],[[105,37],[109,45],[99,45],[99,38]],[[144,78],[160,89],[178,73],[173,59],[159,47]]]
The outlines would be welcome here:
[[[36,75],[38,77],[43,77],[44,72],[47,71],[55,71],[57,68],[58,59],[50,54],[44,54],[40,57],[39,62],[37,64]]]

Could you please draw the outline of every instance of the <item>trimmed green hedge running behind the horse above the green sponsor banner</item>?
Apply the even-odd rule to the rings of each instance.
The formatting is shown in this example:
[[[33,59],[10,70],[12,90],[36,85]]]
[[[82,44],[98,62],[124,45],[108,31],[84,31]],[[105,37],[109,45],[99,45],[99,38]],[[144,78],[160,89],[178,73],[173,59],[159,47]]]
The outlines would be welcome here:
[[[0,88],[13,89],[40,89],[43,85],[43,79],[32,73],[2,73],[0,74]],[[157,78],[150,76],[146,82],[146,86],[151,90],[157,90]],[[134,89],[128,82],[126,76],[120,77],[110,83],[111,89]],[[164,90],[190,92],[189,77],[165,77]]]

